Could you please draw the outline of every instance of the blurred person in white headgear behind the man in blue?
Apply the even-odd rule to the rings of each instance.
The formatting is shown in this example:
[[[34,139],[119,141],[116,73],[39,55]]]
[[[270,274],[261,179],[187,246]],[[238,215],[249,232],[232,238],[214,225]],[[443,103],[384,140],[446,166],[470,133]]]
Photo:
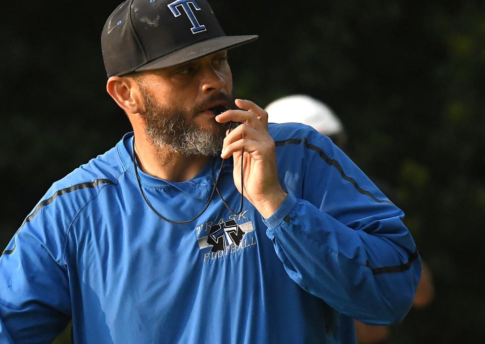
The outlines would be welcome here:
[[[299,122],[313,127],[328,136],[341,150],[346,150],[347,133],[342,121],[323,102],[305,94],[281,97],[271,102],[265,109],[272,123]],[[371,178],[372,181],[391,200],[395,199],[392,188],[385,182]],[[412,228],[410,228],[412,231]],[[414,296],[413,307],[427,306],[434,296],[434,286],[427,265],[422,262],[421,279]],[[384,344],[392,342],[388,326],[367,325],[355,321],[357,342],[359,344]]]

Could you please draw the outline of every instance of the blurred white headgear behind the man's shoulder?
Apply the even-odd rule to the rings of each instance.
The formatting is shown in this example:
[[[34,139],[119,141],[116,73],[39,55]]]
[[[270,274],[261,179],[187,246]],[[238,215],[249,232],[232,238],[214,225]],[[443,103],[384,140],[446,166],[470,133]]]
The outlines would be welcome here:
[[[272,123],[299,122],[326,136],[344,133],[344,126],[333,111],[308,95],[282,97],[269,104],[265,110],[268,112],[268,121]]]

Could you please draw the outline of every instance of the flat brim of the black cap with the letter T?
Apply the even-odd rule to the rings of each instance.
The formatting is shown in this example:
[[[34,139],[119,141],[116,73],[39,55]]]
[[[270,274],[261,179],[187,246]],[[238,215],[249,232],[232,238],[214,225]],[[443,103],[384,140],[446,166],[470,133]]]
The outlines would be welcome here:
[[[208,56],[222,50],[230,49],[245,43],[258,39],[257,35],[250,36],[220,36],[214,37],[202,42],[197,42],[185,46],[173,53],[162,56],[154,61],[147,63],[135,71],[146,71],[159,68],[168,68],[182,63],[197,60],[201,57]]]

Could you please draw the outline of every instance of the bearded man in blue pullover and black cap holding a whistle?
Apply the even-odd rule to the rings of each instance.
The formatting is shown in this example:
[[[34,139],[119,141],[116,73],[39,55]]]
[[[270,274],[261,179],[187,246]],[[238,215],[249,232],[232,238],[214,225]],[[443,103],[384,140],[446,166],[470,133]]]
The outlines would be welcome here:
[[[56,182],[4,252],[2,343],[71,318],[75,343],[353,343],[352,317],[405,316],[420,260],[402,211],[318,132],[232,103],[226,50],[254,39],[205,0],[113,12],[107,90],[133,133]]]

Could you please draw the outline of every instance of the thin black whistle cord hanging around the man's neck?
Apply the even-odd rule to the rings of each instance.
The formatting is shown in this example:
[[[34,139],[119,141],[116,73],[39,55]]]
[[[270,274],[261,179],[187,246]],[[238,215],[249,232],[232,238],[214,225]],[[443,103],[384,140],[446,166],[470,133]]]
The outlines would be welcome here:
[[[233,122],[231,122],[229,124],[229,132],[231,132],[232,130],[232,124]],[[138,168],[137,168],[137,164],[138,164],[138,160],[136,159],[136,154],[135,154],[135,138],[133,137],[133,167],[135,169],[135,175],[136,175],[136,181],[138,182],[138,187],[140,189],[140,192],[141,192],[141,196],[143,197],[143,200],[145,201],[145,203],[150,207],[150,209],[159,217],[161,218],[162,220],[166,221],[166,222],[169,222],[169,223],[173,223],[173,224],[185,224],[185,223],[189,223],[189,222],[192,222],[196,219],[198,219],[199,217],[201,217],[202,214],[204,214],[204,212],[207,210],[207,208],[209,208],[209,205],[211,204],[212,202],[212,199],[214,198],[214,193],[215,191],[217,190],[217,193],[219,194],[222,202],[224,203],[224,205],[226,206],[227,209],[229,209],[231,211],[231,213],[233,213],[234,215],[239,215],[243,212],[243,202],[244,202],[244,185],[243,185],[243,163],[244,163],[244,151],[242,152],[242,155],[241,155],[241,207],[239,209],[239,212],[238,213],[235,213],[226,203],[226,201],[224,200],[224,198],[222,197],[222,194],[220,193],[219,189],[217,188],[217,183],[219,182],[219,178],[221,177],[221,172],[222,172],[222,168],[224,167],[224,162],[225,162],[225,159],[222,159],[222,162],[221,162],[221,167],[219,168],[219,174],[217,176],[217,179],[214,180],[214,166],[216,164],[216,160],[214,159],[214,162],[212,164],[212,182],[214,183],[214,187],[212,188],[212,192],[211,192],[211,196],[209,198],[209,201],[207,202],[207,205],[204,207],[204,209],[202,210],[202,212],[197,215],[195,218],[193,219],[190,219],[190,220],[185,220],[185,221],[174,221],[174,220],[170,220],[170,219],[167,219],[165,216],[163,216],[162,214],[160,214],[154,207],[153,205],[150,203],[150,201],[148,200],[147,196],[145,195],[145,193],[143,192],[143,188],[141,187],[141,180],[140,180],[140,176],[138,175]]]

